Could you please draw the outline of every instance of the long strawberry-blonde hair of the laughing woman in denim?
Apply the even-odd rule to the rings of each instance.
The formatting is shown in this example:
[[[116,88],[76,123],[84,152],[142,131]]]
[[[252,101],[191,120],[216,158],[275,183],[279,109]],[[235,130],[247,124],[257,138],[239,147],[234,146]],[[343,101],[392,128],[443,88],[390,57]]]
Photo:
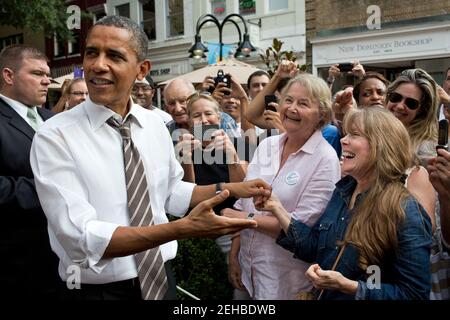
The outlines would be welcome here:
[[[406,128],[381,107],[350,111],[344,131],[355,129],[369,141],[373,180],[352,213],[344,243],[360,250],[359,265],[366,269],[397,248],[397,227],[405,218],[402,204],[410,195],[402,178],[413,165],[414,154]]]

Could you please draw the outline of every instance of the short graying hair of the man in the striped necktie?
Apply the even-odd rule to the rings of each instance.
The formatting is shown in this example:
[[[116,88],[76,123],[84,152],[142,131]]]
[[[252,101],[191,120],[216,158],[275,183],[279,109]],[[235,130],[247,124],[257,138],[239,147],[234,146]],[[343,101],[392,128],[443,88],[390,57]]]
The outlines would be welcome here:
[[[111,26],[127,30],[131,34],[132,47],[138,60],[143,61],[147,57],[148,37],[133,20],[122,16],[106,16],[98,20],[95,26]]]

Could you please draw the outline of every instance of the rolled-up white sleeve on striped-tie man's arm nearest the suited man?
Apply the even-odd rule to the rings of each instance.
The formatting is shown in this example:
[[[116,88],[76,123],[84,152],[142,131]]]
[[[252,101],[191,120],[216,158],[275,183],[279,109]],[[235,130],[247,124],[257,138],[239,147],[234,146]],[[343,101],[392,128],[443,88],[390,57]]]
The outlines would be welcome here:
[[[36,133],[30,162],[50,234],[75,264],[99,273],[110,261],[101,258],[119,225],[98,220],[75,161],[56,132]]]

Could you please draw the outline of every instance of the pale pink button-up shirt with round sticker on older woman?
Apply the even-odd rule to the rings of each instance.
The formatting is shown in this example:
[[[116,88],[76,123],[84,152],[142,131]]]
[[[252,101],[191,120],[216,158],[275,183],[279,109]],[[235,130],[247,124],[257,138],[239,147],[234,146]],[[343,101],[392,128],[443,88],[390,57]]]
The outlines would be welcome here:
[[[255,151],[245,179],[261,178],[269,183],[289,215],[312,226],[325,210],[340,179],[339,159],[318,130],[279,169],[285,141],[286,134],[264,139]],[[255,215],[271,215],[256,210],[252,199],[239,199],[234,206]],[[240,241],[242,283],[250,296],[257,300],[293,300],[299,291],[311,289],[305,276],[310,265],[294,258],[274,238],[258,229],[244,229]]]

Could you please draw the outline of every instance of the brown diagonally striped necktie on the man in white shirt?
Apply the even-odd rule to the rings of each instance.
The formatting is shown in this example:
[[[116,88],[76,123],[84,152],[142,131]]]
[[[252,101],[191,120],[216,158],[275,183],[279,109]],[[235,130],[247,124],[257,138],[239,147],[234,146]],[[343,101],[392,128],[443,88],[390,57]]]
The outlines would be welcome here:
[[[122,136],[130,225],[135,227],[150,226],[154,224],[150,194],[144,164],[131,139],[130,119],[131,116],[120,124],[111,117],[107,120],[107,123],[113,128],[117,128]],[[142,299],[163,299],[168,284],[160,247],[137,253],[135,259],[138,266]]]

